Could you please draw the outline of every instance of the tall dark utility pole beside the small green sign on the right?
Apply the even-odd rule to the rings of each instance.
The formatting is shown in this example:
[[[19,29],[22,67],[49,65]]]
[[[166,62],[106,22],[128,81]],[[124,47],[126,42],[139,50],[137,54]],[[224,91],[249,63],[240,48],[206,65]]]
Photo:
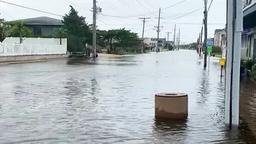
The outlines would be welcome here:
[[[204,0],[204,57],[203,57],[203,68],[207,66],[207,0]]]

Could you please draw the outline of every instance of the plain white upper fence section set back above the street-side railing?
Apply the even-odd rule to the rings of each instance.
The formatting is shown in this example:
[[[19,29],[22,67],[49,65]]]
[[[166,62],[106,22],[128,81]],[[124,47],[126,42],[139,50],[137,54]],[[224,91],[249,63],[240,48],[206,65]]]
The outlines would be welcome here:
[[[12,43],[12,44],[19,44],[20,37],[6,37],[2,43]],[[59,38],[35,38],[35,37],[23,37],[22,38],[23,44],[46,44],[46,45],[60,45]],[[62,45],[67,45],[67,39],[62,38]]]

